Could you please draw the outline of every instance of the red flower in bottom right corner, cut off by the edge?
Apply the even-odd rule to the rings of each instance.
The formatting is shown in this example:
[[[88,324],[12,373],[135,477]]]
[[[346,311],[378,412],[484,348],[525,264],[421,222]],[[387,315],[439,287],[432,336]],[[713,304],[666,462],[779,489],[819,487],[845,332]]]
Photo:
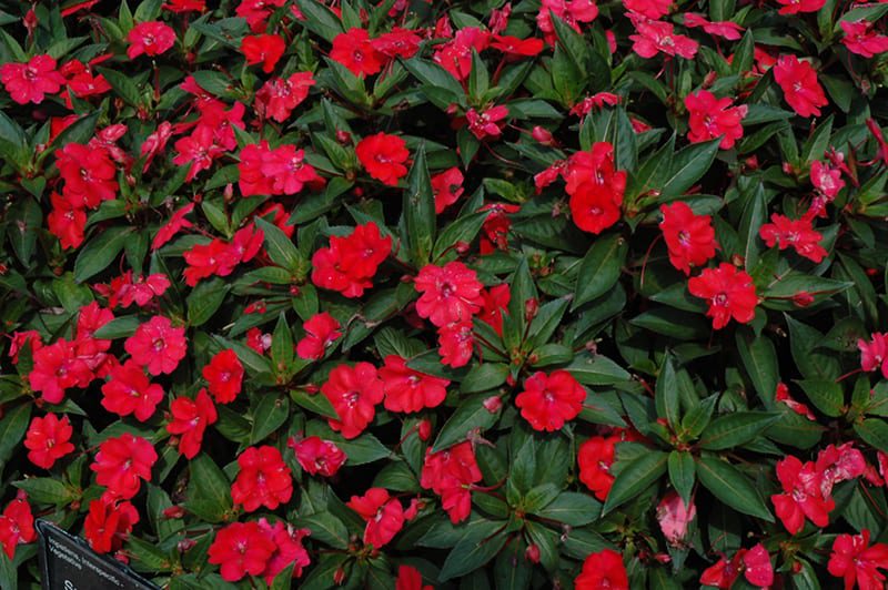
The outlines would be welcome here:
[[[879,570],[888,570],[888,545],[870,547],[867,529],[860,535],[839,535],[833,541],[827,569],[833,576],[845,578],[845,590],[851,590],[855,583],[860,590],[881,590],[885,574]]]

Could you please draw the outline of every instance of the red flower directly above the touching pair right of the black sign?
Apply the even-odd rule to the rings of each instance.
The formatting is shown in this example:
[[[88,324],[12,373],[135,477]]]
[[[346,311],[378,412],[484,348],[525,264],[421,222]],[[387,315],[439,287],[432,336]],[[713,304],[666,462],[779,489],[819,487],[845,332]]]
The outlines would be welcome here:
[[[293,478],[275,447],[250,447],[238,457],[241,470],[231,485],[231,499],[248,512],[264,506],[274,510],[293,496]]]

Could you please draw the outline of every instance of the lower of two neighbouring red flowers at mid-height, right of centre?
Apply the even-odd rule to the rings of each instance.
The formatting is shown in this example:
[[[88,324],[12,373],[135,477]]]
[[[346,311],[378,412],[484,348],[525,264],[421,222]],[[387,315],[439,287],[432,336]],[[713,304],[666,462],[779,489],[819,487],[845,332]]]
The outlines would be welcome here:
[[[731,317],[748,324],[756,316],[758,296],[753,277],[733,264],[723,262],[718,268],[704,268],[699,276],[688,281],[687,288],[709,303],[706,315],[713,318],[714,329],[727,326]]]

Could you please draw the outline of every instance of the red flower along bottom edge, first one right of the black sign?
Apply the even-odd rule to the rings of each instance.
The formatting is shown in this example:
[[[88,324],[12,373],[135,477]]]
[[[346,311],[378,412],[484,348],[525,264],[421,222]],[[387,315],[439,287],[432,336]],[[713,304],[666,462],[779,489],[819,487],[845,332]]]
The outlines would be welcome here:
[[[220,566],[226,582],[236,582],[248,573],[260,576],[278,546],[256,522],[232,522],[215,533],[208,551],[209,561]]]

